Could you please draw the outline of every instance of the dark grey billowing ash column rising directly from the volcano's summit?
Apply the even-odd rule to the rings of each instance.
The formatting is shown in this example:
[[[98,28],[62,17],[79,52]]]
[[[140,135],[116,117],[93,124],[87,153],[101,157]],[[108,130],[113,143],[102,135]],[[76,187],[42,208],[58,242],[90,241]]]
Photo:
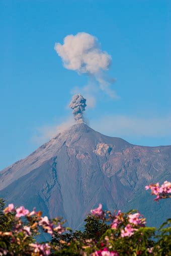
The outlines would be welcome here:
[[[83,118],[83,111],[85,111],[86,99],[80,94],[73,95],[69,107],[73,109],[72,113],[76,122],[85,122]]]

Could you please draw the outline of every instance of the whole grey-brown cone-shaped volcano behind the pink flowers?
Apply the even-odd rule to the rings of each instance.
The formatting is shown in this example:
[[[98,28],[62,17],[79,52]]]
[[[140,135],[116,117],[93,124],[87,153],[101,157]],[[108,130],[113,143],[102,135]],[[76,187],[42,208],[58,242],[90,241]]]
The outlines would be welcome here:
[[[138,209],[158,226],[169,217],[169,202],[153,202],[144,187],[169,180],[170,156],[171,146],[136,146],[78,123],[1,171],[0,197],[62,216],[73,229],[99,203],[109,210]]]

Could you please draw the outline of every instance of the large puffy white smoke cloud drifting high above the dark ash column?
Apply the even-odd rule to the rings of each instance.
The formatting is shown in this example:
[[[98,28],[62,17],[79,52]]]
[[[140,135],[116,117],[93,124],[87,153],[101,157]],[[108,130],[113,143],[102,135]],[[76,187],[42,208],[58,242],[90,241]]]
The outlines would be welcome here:
[[[95,36],[84,32],[68,35],[63,44],[55,43],[54,49],[62,58],[66,69],[93,76],[102,91],[112,98],[117,98],[115,91],[110,88],[114,80],[104,74],[112,63],[112,57],[101,49]]]

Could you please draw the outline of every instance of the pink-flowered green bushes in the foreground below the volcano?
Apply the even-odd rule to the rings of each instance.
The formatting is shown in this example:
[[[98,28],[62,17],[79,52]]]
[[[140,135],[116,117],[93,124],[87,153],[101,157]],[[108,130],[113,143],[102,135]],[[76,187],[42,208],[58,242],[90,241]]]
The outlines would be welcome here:
[[[170,197],[170,182],[146,186],[155,200]],[[65,228],[60,218],[48,219],[36,212],[15,208],[0,200],[0,255],[170,255],[171,220],[156,230],[146,227],[145,218],[138,211],[104,211],[100,204],[85,219],[83,232]],[[51,235],[50,242],[38,243],[40,232]]]

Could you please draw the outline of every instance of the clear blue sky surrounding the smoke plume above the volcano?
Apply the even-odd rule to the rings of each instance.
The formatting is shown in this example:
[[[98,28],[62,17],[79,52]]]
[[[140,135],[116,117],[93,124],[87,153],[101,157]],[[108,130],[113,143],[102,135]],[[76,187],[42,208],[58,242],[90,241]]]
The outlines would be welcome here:
[[[106,75],[119,96],[93,92],[90,126],[133,144],[171,144],[169,0],[2,0],[0,10],[0,169],[47,141],[70,118],[73,88],[90,83],[54,50],[78,32],[112,56]]]

